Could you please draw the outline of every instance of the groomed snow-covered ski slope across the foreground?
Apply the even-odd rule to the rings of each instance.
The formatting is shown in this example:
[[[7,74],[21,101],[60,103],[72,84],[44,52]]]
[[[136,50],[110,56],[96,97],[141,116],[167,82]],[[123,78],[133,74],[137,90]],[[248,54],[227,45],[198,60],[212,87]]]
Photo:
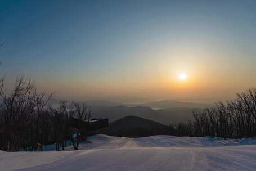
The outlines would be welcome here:
[[[0,151],[0,170],[256,170],[256,139],[96,135],[82,150]]]

